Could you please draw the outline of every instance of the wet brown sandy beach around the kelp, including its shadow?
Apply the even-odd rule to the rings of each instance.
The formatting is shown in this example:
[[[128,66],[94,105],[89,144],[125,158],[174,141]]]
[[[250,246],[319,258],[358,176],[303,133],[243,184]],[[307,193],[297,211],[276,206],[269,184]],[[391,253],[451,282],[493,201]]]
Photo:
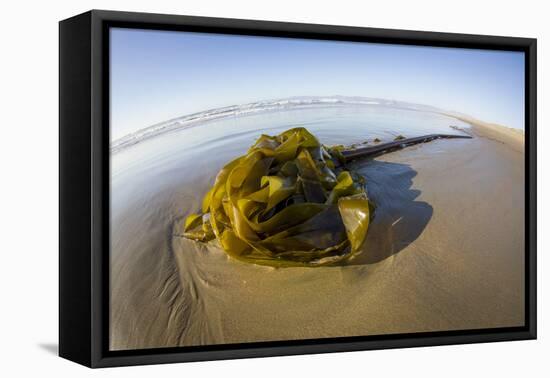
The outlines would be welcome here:
[[[377,211],[345,265],[256,266],[178,236],[216,173],[200,164],[192,188],[125,193],[112,214],[111,349],[523,325],[523,134],[468,122],[474,139],[354,163]]]

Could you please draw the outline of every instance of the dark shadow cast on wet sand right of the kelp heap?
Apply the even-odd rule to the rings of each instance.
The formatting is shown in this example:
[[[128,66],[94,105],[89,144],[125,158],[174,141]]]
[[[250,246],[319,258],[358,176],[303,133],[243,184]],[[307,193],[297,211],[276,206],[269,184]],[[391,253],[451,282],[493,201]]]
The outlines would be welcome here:
[[[369,197],[376,204],[363,251],[344,265],[365,265],[393,256],[415,241],[430,221],[433,208],[416,201],[412,189],[417,172],[407,164],[366,160],[353,165],[367,180]]]

